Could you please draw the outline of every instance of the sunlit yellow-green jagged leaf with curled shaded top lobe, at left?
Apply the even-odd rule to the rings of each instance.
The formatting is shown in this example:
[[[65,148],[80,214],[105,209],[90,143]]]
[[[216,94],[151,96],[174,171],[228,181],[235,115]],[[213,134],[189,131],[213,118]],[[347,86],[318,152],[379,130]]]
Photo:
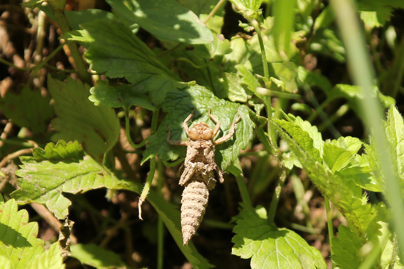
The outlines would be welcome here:
[[[15,174],[18,175],[18,186],[21,189],[11,194],[20,204],[37,202],[45,204],[55,217],[64,219],[68,215],[67,207],[71,202],[62,195],[62,192],[77,193],[96,188],[114,188],[120,181],[97,163],[89,155],[80,156],[82,150],[75,147],[75,143],[65,144],[59,142],[46,145],[45,149],[36,149],[45,152],[45,156],[59,155],[61,158],[51,158],[50,161],[36,157],[21,156],[23,165]],[[35,156],[35,155],[34,155]],[[80,156],[80,158],[77,158]]]

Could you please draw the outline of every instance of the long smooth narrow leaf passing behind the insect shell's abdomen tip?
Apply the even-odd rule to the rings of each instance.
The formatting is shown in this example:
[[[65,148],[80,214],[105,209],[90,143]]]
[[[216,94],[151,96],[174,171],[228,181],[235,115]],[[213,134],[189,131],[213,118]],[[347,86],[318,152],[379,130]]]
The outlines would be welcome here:
[[[140,194],[143,186],[130,181],[126,182],[126,184],[119,188],[131,190]],[[164,221],[164,224],[166,225],[168,231],[170,231],[171,236],[173,236],[181,252],[184,254],[185,258],[187,258],[189,263],[191,263],[192,268],[208,269],[214,267],[198,253],[198,250],[195,248],[192,240],[189,240],[188,245],[183,245],[180,211],[173,204],[170,204],[164,200],[161,195],[158,195],[154,191],[150,191],[149,194],[147,194],[147,200],[151,203],[154,209],[156,209],[157,213]]]

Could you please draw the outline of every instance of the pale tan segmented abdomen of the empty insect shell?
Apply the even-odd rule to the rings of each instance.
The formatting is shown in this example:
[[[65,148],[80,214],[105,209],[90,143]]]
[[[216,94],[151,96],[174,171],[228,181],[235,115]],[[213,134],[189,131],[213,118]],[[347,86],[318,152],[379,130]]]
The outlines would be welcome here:
[[[185,184],[181,199],[181,228],[184,245],[188,244],[201,224],[208,198],[209,191],[204,182],[191,179]]]

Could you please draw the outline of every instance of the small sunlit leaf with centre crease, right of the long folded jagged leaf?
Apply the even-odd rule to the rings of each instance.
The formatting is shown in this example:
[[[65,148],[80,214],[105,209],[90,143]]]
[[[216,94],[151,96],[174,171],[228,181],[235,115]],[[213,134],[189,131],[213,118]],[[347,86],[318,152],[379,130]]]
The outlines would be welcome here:
[[[363,142],[359,138],[351,136],[340,137],[338,140],[326,141],[324,143],[324,162],[332,172],[339,171],[346,167],[351,158],[362,147]]]

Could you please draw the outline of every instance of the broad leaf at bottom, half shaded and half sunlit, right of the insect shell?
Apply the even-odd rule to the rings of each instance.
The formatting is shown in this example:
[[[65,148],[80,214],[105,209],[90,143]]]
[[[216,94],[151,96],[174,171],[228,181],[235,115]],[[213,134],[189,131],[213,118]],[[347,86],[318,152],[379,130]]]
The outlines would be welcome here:
[[[232,254],[251,258],[252,269],[327,268],[320,251],[309,246],[294,231],[269,226],[262,209],[260,215],[246,207],[240,212],[233,229],[236,236],[231,240],[235,243]]]

